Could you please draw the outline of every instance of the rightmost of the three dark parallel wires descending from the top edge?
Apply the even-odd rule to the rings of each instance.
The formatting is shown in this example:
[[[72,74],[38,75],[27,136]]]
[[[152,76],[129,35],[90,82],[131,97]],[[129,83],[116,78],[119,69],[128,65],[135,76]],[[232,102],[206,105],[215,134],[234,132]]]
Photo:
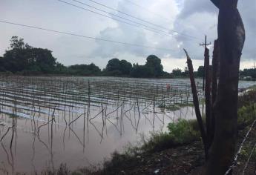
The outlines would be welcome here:
[[[76,1],[76,2],[78,2],[78,3],[80,3],[80,4],[84,4],[84,3],[82,3],[81,1],[77,1],[77,0],[73,0],[73,1]],[[133,18],[133,19],[138,19],[138,20],[140,20],[140,21],[142,21],[142,22],[145,22],[145,23],[154,25],[154,26],[156,26],[156,27],[160,27],[160,28],[163,28],[163,29],[165,29],[165,30],[170,30],[170,31],[172,31],[172,32],[174,32],[174,33],[178,33],[178,34],[180,34],[180,35],[184,35],[184,36],[188,36],[188,37],[197,39],[197,38],[194,37],[194,36],[190,36],[190,35],[187,35],[187,34],[184,34],[184,33],[180,33],[180,32],[178,32],[177,30],[168,29],[168,28],[163,27],[163,26],[161,26],[161,25],[159,25],[159,24],[154,24],[153,22],[148,22],[148,21],[145,20],[145,19],[140,19],[140,18],[138,18],[137,16],[132,16],[132,15],[130,15],[130,14],[128,14],[128,13],[124,13],[124,12],[122,12],[122,11],[120,11],[120,10],[116,10],[116,9],[114,9],[114,8],[112,8],[112,7],[109,7],[109,6],[105,5],[105,4],[99,3],[99,2],[97,2],[97,1],[93,1],[93,0],[88,0],[88,1],[91,1],[91,2],[93,2],[93,3],[95,3],[95,4],[99,4],[99,5],[101,5],[102,7],[106,7],[106,8],[108,8],[108,9],[114,10],[114,11],[116,11],[116,12],[118,12],[118,13],[122,13],[122,14],[124,14],[124,15],[126,15],[126,16],[130,16],[130,17]],[[87,5],[87,4],[85,4],[85,5]]]

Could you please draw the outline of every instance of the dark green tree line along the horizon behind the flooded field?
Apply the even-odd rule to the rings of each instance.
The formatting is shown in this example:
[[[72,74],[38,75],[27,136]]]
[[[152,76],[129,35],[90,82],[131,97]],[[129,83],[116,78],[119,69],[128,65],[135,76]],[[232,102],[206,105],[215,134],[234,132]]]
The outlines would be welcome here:
[[[210,67],[211,68],[211,67]],[[161,59],[150,55],[146,59],[145,65],[131,64],[124,59],[111,59],[106,67],[101,70],[98,66],[90,65],[70,65],[65,66],[53,57],[52,51],[42,48],[32,47],[24,43],[24,39],[13,36],[10,39],[9,50],[6,50],[3,57],[0,57],[1,73],[16,73],[21,75],[73,75],[73,76],[125,76],[136,78],[182,78],[188,77],[188,68],[184,70],[176,68],[171,73],[163,71]],[[196,77],[203,77],[204,67],[198,67],[194,72]],[[256,78],[256,69],[240,70],[243,77]]]

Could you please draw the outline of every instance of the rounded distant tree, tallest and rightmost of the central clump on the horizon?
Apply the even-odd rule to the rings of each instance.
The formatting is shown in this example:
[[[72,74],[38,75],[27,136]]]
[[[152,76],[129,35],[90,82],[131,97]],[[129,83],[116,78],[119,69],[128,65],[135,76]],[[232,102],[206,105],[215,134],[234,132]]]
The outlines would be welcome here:
[[[163,65],[161,64],[161,59],[159,59],[157,56],[148,56],[145,67],[152,69],[155,77],[163,76]]]

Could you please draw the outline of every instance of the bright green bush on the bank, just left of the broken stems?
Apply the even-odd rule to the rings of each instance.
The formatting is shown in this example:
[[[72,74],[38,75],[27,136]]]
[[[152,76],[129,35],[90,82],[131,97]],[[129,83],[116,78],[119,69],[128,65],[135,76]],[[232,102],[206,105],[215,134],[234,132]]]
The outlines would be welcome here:
[[[193,142],[200,136],[200,133],[192,127],[191,122],[186,119],[179,119],[176,123],[169,123],[168,130],[177,144]]]

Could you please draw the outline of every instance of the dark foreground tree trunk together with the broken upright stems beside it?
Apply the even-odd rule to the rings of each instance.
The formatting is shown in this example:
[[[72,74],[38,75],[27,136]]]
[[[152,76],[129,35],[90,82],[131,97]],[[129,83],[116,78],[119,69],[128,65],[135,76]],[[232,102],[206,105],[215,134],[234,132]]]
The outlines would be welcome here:
[[[199,110],[197,111],[197,122],[200,125],[206,151],[206,174],[232,174],[232,169],[229,167],[234,163],[234,149],[237,137],[239,66],[245,41],[245,30],[240,13],[237,10],[237,0],[211,1],[219,8],[218,39],[214,42],[211,88],[208,86],[210,85],[209,62],[205,64],[207,65],[205,91],[208,94],[206,95],[206,101],[209,102],[209,106],[211,105],[209,109],[212,111],[206,113],[206,131],[202,127]],[[209,57],[207,48],[205,56]],[[195,90],[196,87],[194,85],[193,67],[191,67],[191,60],[188,54],[187,58],[193,101],[197,109],[197,90]],[[220,71],[219,81],[217,81],[218,69]],[[211,95],[209,93],[210,90]],[[211,117],[209,118],[209,116]],[[213,133],[212,136],[211,133]]]

